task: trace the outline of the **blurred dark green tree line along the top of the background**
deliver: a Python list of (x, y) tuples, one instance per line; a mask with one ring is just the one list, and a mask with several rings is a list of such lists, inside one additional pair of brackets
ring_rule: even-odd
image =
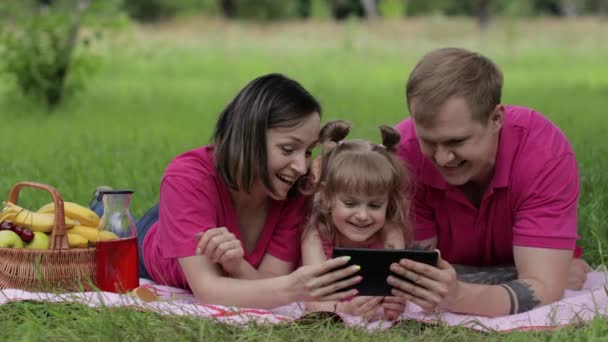
[[(487, 4), (488, 14), (511, 17), (562, 16), (569, 10), (594, 14), (608, 7), (608, 0), (376, 0), (379, 15), (392, 18), (438, 14), (475, 16), (483, 3)], [(329, 17), (328, 13), (335, 19), (364, 17), (361, 0), (124, 0), (124, 8), (132, 18), (144, 22), (182, 13), (258, 21), (324, 19)]]

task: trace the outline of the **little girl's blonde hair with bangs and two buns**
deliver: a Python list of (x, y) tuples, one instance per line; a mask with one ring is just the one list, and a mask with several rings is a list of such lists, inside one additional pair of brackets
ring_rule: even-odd
[[(338, 193), (367, 196), (388, 194), (385, 227), (403, 229), (405, 241), (411, 241), (409, 220), (410, 179), (403, 161), (396, 155), (401, 136), (389, 126), (380, 126), (382, 144), (365, 140), (343, 141), (351, 124), (337, 120), (321, 128), (322, 146), (317, 194), (304, 235), (316, 228), (324, 240), (335, 241), (336, 228), (331, 220), (331, 205)], [(383, 227), (384, 229), (384, 227)]]

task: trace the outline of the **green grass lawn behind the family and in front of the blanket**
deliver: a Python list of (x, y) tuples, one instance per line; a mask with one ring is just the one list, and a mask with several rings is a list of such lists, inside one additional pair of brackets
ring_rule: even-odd
[[(353, 122), (352, 137), (379, 140), (376, 127), (407, 116), (404, 83), (434, 47), (462, 46), (493, 58), (505, 73), (504, 102), (543, 112), (572, 142), (579, 162), (579, 234), (584, 258), (606, 264), (608, 246), (608, 26), (578, 21), (499, 21), (483, 35), (472, 21), (441, 18), (372, 26), (313, 22), (225, 24), (192, 18), (133, 27), (98, 47), (103, 65), (85, 92), (48, 113), (0, 83), (0, 198), (21, 180), (48, 183), (86, 204), (95, 186), (135, 189), (136, 215), (154, 204), (167, 162), (206, 144), (217, 114), (252, 78), (282, 72), (324, 106), (323, 119)], [(49, 201), (24, 190), (20, 203)], [(604, 252), (605, 254), (605, 252)], [(78, 320), (76, 320), (78, 319)], [(0, 307), (2, 340), (587, 340), (608, 322), (553, 333), (481, 334), (406, 322), (368, 334), (341, 325), (256, 326), (167, 317), (127, 309), (11, 303)]]

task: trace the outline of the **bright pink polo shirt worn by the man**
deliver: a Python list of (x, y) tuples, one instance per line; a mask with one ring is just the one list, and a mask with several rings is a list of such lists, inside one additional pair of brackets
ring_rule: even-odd
[(479, 208), (422, 155), (410, 118), (396, 128), (398, 154), (414, 182), (416, 240), (436, 236), (445, 260), (499, 266), (513, 264), (514, 245), (575, 250), (576, 160), (564, 134), (540, 113), (505, 106), (494, 175)]

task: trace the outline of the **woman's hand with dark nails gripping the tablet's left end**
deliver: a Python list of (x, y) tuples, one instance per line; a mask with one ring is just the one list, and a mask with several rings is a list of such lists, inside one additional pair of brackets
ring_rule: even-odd
[(357, 295), (357, 290), (343, 291), (363, 278), (354, 276), (359, 266), (344, 267), (349, 257), (329, 259), (315, 265), (301, 266), (287, 276), (290, 302), (343, 300)]

